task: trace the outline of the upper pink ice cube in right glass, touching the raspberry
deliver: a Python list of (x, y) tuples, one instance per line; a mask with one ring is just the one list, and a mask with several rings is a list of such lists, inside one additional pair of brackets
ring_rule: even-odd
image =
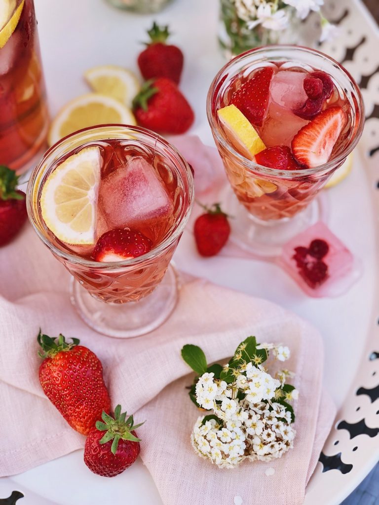
[(305, 72), (291, 70), (277, 72), (270, 83), (272, 101), (289, 111), (304, 105), (308, 98), (303, 87), (306, 76)]

